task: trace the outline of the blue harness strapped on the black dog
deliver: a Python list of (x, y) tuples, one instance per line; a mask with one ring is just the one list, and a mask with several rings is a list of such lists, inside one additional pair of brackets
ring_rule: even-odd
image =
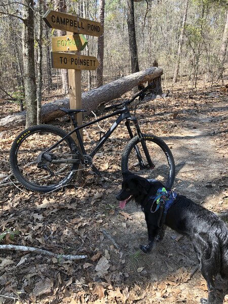
[[(173, 202), (175, 201), (176, 196), (177, 196), (176, 192), (173, 192), (172, 190), (167, 191), (166, 188), (163, 187), (158, 189), (155, 196), (150, 196), (148, 198), (148, 202), (153, 200), (153, 203), (150, 207), (151, 213), (155, 213), (160, 209), (160, 215), (158, 219), (158, 226), (160, 228), (165, 222), (167, 212), (171, 207), (171, 205), (173, 204)], [(154, 206), (155, 203), (157, 204), (156, 208)], [(153, 211), (153, 209), (155, 210)]]

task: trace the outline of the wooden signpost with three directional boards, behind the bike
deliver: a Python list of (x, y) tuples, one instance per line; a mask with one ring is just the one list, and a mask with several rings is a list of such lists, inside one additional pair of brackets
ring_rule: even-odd
[[(81, 109), (81, 70), (95, 70), (98, 67), (96, 57), (79, 54), (88, 43), (83, 34), (99, 37), (103, 34), (103, 27), (99, 22), (53, 10), (48, 10), (43, 19), (49, 27), (67, 31), (66, 36), (52, 37), (52, 67), (68, 69), (70, 108)], [(78, 52), (74, 54), (63, 53), (64, 51)], [(78, 113), (77, 121), (82, 125), (82, 113)], [(73, 130), (72, 125), (71, 129)], [(80, 134), (82, 136), (82, 130)], [(72, 137), (76, 141), (76, 137)]]

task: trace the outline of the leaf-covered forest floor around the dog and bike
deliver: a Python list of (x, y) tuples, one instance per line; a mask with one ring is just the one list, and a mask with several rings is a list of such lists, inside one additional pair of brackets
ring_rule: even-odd
[[(147, 97), (137, 110), (143, 131), (161, 136), (171, 148), (175, 191), (218, 213), (228, 211), (227, 101), (221, 87), (175, 90), (166, 98)], [(10, 106), (1, 109), (2, 116), (15, 110)], [(107, 129), (111, 122), (101, 126)], [(62, 122), (60, 127), (67, 129), (69, 124)], [(0, 173), (9, 174), (9, 150), (21, 130), (1, 134)], [(85, 142), (88, 134), (98, 139), (98, 131), (87, 128)], [(139, 244), (147, 242), (143, 213), (132, 202), (122, 211), (116, 200), (127, 141), (123, 124), (105, 145), (105, 154), (95, 160), (102, 178), (87, 174), (81, 184), (45, 195), (23, 187), (1, 188), (0, 229), (9, 233), (0, 244), (88, 258), (67, 261), (2, 251), (0, 303), (195, 304), (207, 297), (206, 282), (185, 237), (168, 230), (150, 254), (139, 250)]]

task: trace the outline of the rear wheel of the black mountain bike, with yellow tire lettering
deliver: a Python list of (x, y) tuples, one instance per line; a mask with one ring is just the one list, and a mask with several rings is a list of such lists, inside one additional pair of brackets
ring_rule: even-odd
[(44, 154), (66, 135), (59, 128), (40, 125), (28, 128), (17, 136), (10, 151), (10, 165), (22, 185), (32, 191), (50, 192), (73, 178), (79, 164), (67, 163), (77, 159), (76, 146), (70, 136)]

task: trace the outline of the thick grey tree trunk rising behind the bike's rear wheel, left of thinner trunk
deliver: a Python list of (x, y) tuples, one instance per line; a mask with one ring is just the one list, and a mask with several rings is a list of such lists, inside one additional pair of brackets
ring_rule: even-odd
[(23, 6), (23, 63), (24, 88), (26, 101), (26, 127), (36, 125), (36, 88), (35, 88), (35, 62), (34, 62), (34, 19), (33, 0), (24, 0)]

